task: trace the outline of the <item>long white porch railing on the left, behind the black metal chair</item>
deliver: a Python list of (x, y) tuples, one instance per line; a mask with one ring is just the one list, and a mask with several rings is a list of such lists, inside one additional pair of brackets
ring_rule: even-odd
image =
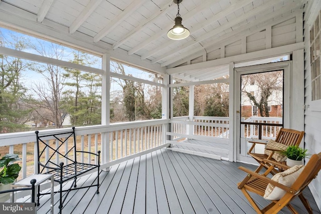
[[(107, 168), (166, 146), (165, 130), (168, 124), (169, 120), (159, 119), (76, 127), (77, 149), (89, 152), (100, 150), (101, 168)], [(40, 133), (51, 134), (66, 130), (70, 128), (42, 130)], [(68, 145), (60, 149), (60, 152), (64, 152), (64, 149), (68, 150)], [(22, 158), (22, 170), (18, 179), (37, 173), (37, 144), (34, 131), (0, 134), (0, 151), (2, 155), (18, 153)], [(90, 155), (77, 158), (86, 163), (98, 161)], [(59, 163), (59, 157), (56, 158), (56, 162)]]

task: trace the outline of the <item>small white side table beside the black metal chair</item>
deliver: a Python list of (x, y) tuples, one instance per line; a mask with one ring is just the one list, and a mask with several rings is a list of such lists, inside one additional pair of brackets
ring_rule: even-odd
[[(35, 183), (35, 202), (36, 204), (38, 203), (37, 201), (37, 194), (38, 194), (38, 188), (39, 185), (43, 182), (45, 182), (46, 180), (50, 179), (51, 180), (51, 195), (50, 195), (50, 213), (53, 214), (54, 213), (54, 175), (52, 174), (32, 174), (22, 180), (19, 180), (18, 182), (14, 183), (11, 185), (12, 188), (17, 188), (17, 187), (30, 187), (30, 181), (32, 179), (36, 179), (36, 183)], [(15, 201), (15, 194), (12, 194), (11, 197), (12, 201)], [(35, 207), (35, 213), (37, 213), (37, 207)]]

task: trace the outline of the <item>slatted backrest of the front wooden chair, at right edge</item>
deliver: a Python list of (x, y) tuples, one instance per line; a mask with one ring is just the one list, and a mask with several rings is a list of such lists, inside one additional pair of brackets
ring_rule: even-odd
[(307, 186), (321, 169), (321, 152), (313, 154), (291, 188), (301, 190)]

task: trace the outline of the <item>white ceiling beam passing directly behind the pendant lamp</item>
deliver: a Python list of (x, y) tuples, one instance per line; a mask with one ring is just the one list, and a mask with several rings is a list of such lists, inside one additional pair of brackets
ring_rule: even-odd
[[(184, 16), (182, 16), (184, 22), (186, 22), (186, 20), (193, 18), (193, 16), (195, 14), (200, 13), (201, 11), (210, 8), (212, 5), (219, 3), (219, 0), (206, 0), (205, 3), (202, 3), (201, 5), (199, 5), (198, 7), (194, 8), (192, 11), (188, 12), (187, 14), (185, 14)], [(184, 2), (182, 3), (184, 4)], [(174, 7), (176, 7), (176, 4), (173, 4)], [(157, 32), (156, 34), (154, 34), (153, 36), (149, 37), (147, 40), (145, 40), (144, 42), (140, 43), (139, 45), (137, 45), (136, 47), (132, 48), (131, 50), (128, 51), (128, 54), (134, 54), (137, 51), (139, 51), (140, 49), (144, 48), (145, 46), (147, 46), (149, 43), (157, 40), (160, 37), (163, 37), (164, 35), (167, 34), (167, 32), (173, 28), (174, 26), (174, 20), (173, 23), (171, 25), (168, 25), (165, 29), (163, 29), (160, 32)]]

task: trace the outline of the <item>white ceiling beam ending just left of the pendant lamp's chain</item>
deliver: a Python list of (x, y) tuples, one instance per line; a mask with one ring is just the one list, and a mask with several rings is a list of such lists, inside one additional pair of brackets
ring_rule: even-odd
[[(118, 40), (117, 42), (115, 42), (112, 46), (112, 49), (115, 50), (116, 48), (118, 48), (119, 46), (121, 46), (122, 44), (124, 44), (125, 42), (127, 42), (131, 37), (133, 37), (137, 32), (140, 32), (141, 29), (143, 29), (148, 23), (150, 23), (151, 21), (153, 21), (155, 18), (157, 18), (158, 16), (163, 15), (167, 9), (169, 9), (170, 5), (173, 3), (173, 0), (171, 0), (170, 2), (166, 3), (164, 6), (161, 7), (161, 9), (155, 13), (152, 17), (148, 18), (147, 20), (145, 20), (143, 23), (139, 24), (137, 27), (135, 27), (132, 31), (130, 31), (127, 35), (125, 35), (124, 37), (122, 37), (120, 40)], [(173, 7), (171, 9), (174, 9)]]

